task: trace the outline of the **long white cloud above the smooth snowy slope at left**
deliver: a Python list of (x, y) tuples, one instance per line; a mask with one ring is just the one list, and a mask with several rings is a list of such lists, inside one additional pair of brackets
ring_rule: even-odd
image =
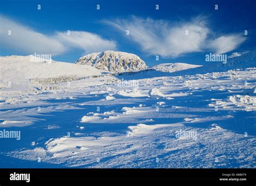
[[(45, 35), (1, 15), (0, 23), (0, 47), (14, 49), (24, 54), (36, 52), (60, 55), (72, 48), (83, 49), (85, 53), (116, 49), (116, 42), (103, 39), (94, 33), (70, 31), (70, 35), (67, 32)], [(9, 30), (11, 35), (8, 35)]]

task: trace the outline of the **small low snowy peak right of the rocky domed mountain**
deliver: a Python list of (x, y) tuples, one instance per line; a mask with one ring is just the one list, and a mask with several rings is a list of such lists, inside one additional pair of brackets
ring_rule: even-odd
[(200, 67), (200, 66), (190, 65), (187, 63), (162, 63), (162, 64), (151, 67), (151, 69), (172, 73), (174, 71), (180, 71), (180, 70), (197, 68), (197, 67)]

